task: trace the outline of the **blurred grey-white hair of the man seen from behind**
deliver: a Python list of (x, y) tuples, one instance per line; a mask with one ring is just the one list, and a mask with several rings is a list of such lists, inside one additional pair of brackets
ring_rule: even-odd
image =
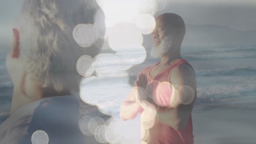
[[(26, 70), (44, 88), (78, 91), (76, 64), (82, 55), (94, 57), (95, 45), (80, 47), (72, 37), (79, 23), (94, 24), (96, 0), (25, 0), (16, 24)], [(104, 24), (103, 24), (104, 25)]]

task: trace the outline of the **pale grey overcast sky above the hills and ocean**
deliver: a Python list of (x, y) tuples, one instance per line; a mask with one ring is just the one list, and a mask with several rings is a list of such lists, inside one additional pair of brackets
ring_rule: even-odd
[[(106, 0), (107, 1), (107, 0)], [(129, 1), (129, 0), (127, 0)], [(163, 1), (163, 0), (161, 0)], [(255, 0), (167, 0), (164, 11), (181, 15), (185, 23), (193, 25), (226, 25), (231, 28), (256, 29)], [(9, 37), (13, 21), (19, 14), (22, 0), (1, 0), (0, 39)]]

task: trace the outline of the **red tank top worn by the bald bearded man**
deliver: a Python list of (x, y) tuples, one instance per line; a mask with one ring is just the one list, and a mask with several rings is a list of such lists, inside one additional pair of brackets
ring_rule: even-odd
[[(191, 65), (185, 60), (181, 59), (178, 62), (170, 65), (163, 73), (152, 77), (149, 75), (150, 70), (159, 63), (152, 65), (142, 71), (147, 76), (148, 83), (152, 80), (156, 80), (159, 82), (170, 82), (170, 74), (174, 67), (181, 64), (188, 64), (190, 67)], [(192, 68), (192, 67), (191, 67)], [(146, 141), (148, 144), (190, 144), (194, 143), (194, 135), (193, 135), (193, 125), (192, 125), (192, 118), (191, 114), (189, 116), (189, 120), (185, 128), (181, 131), (176, 131), (172, 127), (167, 125), (156, 123), (153, 128), (149, 129), (149, 136), (147, 137)]]

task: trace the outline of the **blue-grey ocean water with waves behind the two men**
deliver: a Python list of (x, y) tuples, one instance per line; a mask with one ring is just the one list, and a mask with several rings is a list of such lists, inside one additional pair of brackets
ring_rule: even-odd
[[(0, 53), (0, 124), (9, 116), (13, 84), (5, 68), (5, 52)], [(193, 112), (206, 111), (201, 105), (242, 104), (256, 101), (256, 45), (183, 47), (182, 56), (193, 65), (197, 80), (197, 99)], [(148, 64), (157, 62), (147, 60)], [(141, 66), (143, 67), (143, 65)], [(133, 77), (133, 78), (132, 78)], [(130, 79), (134, 79), (133, 74)], [(91, 92), (103, 95), (90, 97), (103, 112), (118, 117), (124, 95), (131, 91), (127, 79), (109, 77), (94, 81)], [(100, 91), (98, 91), (100, 89)], [(94, 91), (95, 90), (95, 91)]]

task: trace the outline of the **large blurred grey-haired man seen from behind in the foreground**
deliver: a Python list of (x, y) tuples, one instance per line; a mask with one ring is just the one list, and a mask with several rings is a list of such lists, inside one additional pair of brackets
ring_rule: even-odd
[(100, 50), (81, 47), (72, 37), (78, 24), (94, 24), (97, 10), (94, 0), (24, 1), (7, 55), (14, 89), (0, 143), (100, 143), (93, 134), (83, 135), (86, 125), (80, 130), (79, 119), (109, 116), (75, 95), (82, 79), (76, 69), (79, 57), (95, 57)]

